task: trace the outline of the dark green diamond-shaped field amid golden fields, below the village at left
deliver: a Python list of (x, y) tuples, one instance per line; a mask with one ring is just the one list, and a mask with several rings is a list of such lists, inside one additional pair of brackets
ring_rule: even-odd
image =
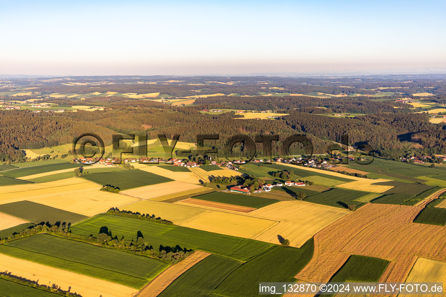
[(83, 175), (82, 177), (94, 183), (99, 183), (103, 186), (111, 185), (115, 188), (118, 187), (121, 191), (136, 187), (153, 185), (156, 183), (170, 182), (173, 180), (164, 176), (156, 175), (151, 172), (146, 172), (138, 169), (90, 173), (87, 175)]

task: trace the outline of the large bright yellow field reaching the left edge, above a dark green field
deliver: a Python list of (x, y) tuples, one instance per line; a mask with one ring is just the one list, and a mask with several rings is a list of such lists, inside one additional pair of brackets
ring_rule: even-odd
[(4, 186), (0, 204), (28, 200), (84, 216), (94, 216), (106, 212), (110, 207), (120, 207), (138, 200), (99, 191), (100, 188), (95, 183), (74, 177), (48, 183)]

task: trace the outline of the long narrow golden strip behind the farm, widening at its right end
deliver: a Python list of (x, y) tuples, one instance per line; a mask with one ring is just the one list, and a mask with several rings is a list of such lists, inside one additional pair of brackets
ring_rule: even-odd
[(316, 169), (316, 168), (297, 166), (297, 165), (287, 164), (287, 163), (278, 163), (278, 162), (275, 162), (275, 163), (289, 166), (289, 167), (294, 167), (297, 169), (302, 169), (302, 170), (307, 170), (307, 171), (318, 172), (321, 174), (342, 177), (344, 179), (355, 180), (354, 182), (342, 183), (342, 184), (336, 185), (336, 187), (343, 187), (346, 189), (359, 190), (359, 191), (371, 191), (371, 192), (376, 192), (376, 193), (383, 193), (383, 192), (392, 188), (392, 186), (380, 186), (380, 185), (372, 184), (372, 183), (388, 182), (388, 181), (390, 181), (390, 179), (364, 179), (362, 177), (344, 175), (342, 173), (338, 173), (338, 172), (334, 172), (334, 171), (320, 170), (320, 169)]

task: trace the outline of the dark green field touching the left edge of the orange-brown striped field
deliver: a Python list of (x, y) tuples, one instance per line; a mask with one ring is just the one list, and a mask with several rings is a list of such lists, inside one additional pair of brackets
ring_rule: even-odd
[[(313, 239), (301, 248), (276, 246), (268, 252), (235, 269), (212, 291), (218, 296), (259, 296), (259, 281), (295, 282), (294, 276), (311, 260), (314, 251)], [(252, 288), (252, 289), (248, 289)]]

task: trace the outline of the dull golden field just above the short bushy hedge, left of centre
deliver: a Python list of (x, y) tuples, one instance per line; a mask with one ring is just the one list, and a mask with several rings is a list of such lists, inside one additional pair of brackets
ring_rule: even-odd
[(128, 204), (121, 210), (129, 210), (131, 212), (140, 212), (141, 214), (154, 214), (161, 219), (169, 220), (173, 224), (179, 225), (186, 220), (193, 218), (201, 213), (207, 212), (197, 207), (188, 207), (183, 205), (157, 202), (151, 200), (143, 200)]

